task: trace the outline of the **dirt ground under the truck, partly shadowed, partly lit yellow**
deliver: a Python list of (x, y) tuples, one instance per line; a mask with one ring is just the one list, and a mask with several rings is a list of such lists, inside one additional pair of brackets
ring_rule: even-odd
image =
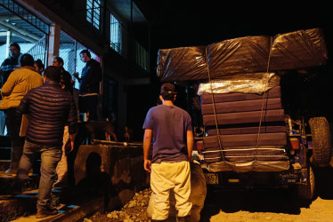
[(316, 194), (300, 202), (288, 189), (220, 190), (207, 196), (201, 221), (333, 221), (333, 169), (316, 169)]

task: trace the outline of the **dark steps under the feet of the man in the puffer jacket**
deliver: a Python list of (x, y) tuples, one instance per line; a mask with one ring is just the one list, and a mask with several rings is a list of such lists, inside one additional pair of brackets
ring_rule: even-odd
[[(24, 192), (15, 196), (0, 195), (0, 215), (2, 221), (82, 221), (94, 212), (103, 212), (104, 197), (84, 194), (72, 188), (68, 190), (53, 190), (53, 207), (58, 214), (48, 218), (36, 218), (38, 190)], [(0, 217), (1, 218), (1, 217)]]

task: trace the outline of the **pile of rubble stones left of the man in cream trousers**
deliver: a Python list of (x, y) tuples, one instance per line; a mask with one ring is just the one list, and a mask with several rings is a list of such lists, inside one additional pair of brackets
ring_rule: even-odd
[(84, 222), (94, 221), (149, 221), (146, 215), (148, 203), (150, 202), (150, 188), (135, 193), (131, 201), (127, 202), (121, 210), (113, 210), (105, 214), (95, 213), (90, 218), (85, 218)]

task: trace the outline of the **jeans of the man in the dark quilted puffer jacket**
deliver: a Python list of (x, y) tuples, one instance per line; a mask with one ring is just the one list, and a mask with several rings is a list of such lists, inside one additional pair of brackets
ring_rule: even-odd
[(24, 143), (23, 155), (20, 158), (20, 166), (17, 173), (19, 180), (28, 178), (28, 171), (41, 154), (40, 180), (38, 187), (37, 208), (43, 208), (50, 204), (51, 190), (55, 178), (55, 169), (61, 160), (61, 146), (46, 146), (28, 142)]

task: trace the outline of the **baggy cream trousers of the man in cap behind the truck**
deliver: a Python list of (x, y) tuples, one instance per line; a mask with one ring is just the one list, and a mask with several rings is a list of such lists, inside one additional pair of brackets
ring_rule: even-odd
[(191, 214), (192, 204), (189, 202), (191, 170), (189, 162), (152, 163), (150, 187), (155, 199), (152, 219), (163, 220), (168, 218), (170, 190), (174, 190), (175, 193), (175, 209), (178, 211), (178, 217)]

